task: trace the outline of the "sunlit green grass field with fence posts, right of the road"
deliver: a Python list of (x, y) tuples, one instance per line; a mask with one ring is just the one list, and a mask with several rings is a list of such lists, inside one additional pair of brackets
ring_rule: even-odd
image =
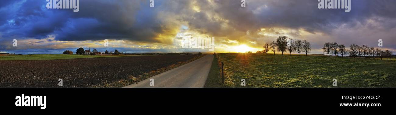
[[(224, 61), (225, 84), (217, 60), (205, 87), (396, 87), (396, 61), (325, 56), (218, 54)], [(228, 76), (230, 78), (228, 78)], [(333, 78), (337, 86), (333, 86)]]

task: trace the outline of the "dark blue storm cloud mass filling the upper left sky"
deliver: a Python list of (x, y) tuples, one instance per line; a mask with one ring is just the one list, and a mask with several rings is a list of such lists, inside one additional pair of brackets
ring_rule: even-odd
[[(157, 19), (155, 7), (148, 7), (147, 0), (80, 0), (79, 12), (46, 9), (46, 3), (45, 0), (27, 0), (19, 7), (12, 7), (11, 3), (2, 5), (16, 10), (1, 11), (8, 13), (0, 27), (3, 37), (42, 39), (56, 35), (61, 41), (126, 39), (169, 43), (158, 37), (166, 37), (169, 34), (166, 32), (174, 29)], [(160, 1), (157, 4), (161, 4)], [(8, 20), (15, 22), (8, 24)]]

